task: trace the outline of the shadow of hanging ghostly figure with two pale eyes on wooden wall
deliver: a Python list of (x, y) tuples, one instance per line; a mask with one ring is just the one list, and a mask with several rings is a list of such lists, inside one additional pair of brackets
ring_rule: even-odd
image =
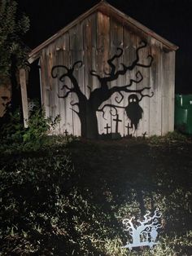
[(125, 108), (126, 114), (131, 121), (131, 127), (137, 130), (139, 120), (142, 119), (142, 107), (139, 105), (139, 99), (137, 95), (129, 95), (128, 106)]

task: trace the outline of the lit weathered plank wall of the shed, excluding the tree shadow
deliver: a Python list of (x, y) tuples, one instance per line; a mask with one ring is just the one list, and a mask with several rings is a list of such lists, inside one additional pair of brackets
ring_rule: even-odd
[[(63, 77), (62, 82), (59, 81), (59, 77), (66, 73), (67, 69), (56, 68), (53, 78), (51, 68), (55, 65), (72, 68), (76, 61), (81, 60), (83, 65), (76, 64), (73, 74), (82, 94), (89, 99), (91, 93), (100, 87), (98, 78), (90, 75), (90, 70), (94, 70), (100, 77), (107, 76), (105, 73), (111, 70), (107, 60), (117, 54), (117, 47), (122, 48), (124, 53), (113, 61), (116, 70), (122, 68), (121, 63), (131, 65), (136, 58), (136, 49), (141, 46), (140, 42), (143, 39), (147, 42), (147, 46), (139, 51), (139, 63), (149, 64), (150, 58), (147, 59), (147, 56), (152, 55), (154, 60), (151, 67), (137, 66), (108, 83), (110, 89), (113, 86), (129, 85), (132, 79), (137, 80), (138, 72), (142, 73), (143, 77), (141, 82), (133, 83), (129, 87), (132, 90), (129, 93), (122, 92), (120, 95), (116, 92), (103, 101), (99, 109), (108, 107), (103, 108), (104, 113), (97, 112), (98, 133), (142, 136), (164, 135), (169, 130), (173, 130), (175, 52), (165, 51), (162, 43), (154, 38), (146, 37), (141, 31), (133, 30), (114, 18), (98, 12), (76, 24), (41, 52), (42, 104), (48, 117), (54, 118), (60, 115), (61, 121), (56, 130), (58, 134), (63, 134), (67, 130), (68, 134), (80, 136), (82, 121), (77, 114), (78, 96), (76, 93), (68, 93), (72, 88), (72, 82), (68, 77)], [(138, 90), (144, 87), (146, 90), (143, 90), (142, 94), (139, 93)], [(66, 97), (63, 98), (64, 95)], [(141, 99), (136, 106), (130, 104), (129, 95)], [(116, 110), (112, 106), (118, 106), (116, 108), (120, 120), (118, 123), (115, 121)], [(132, 121), (127, 115), (129, 107), (140, 114), (142, 111), (142, 118), (138, 118), (137, 121), (137, 129), (130, 127)], [(86, 111), (88, 110), (85, 110), (85, 113)], [(89, 129), (88, 122), (87, 130)]]

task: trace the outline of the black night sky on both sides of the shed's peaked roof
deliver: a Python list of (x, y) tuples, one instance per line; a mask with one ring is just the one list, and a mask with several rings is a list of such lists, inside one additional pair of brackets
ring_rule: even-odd
[[(32, 49), (89, 10), (96, 0), (17, 0), (31, 20), (24, 38)], [(176, 93), (192, 94), (192, 0), (108, 0), (112, 6), (179, 46)]]

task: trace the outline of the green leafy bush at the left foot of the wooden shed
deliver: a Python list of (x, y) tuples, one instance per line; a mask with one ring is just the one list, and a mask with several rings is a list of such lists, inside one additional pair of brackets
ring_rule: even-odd
[(24, 128), (23, 118), (20, 110), (14, 113), (7, 111), (2, 117), (0, 139), (2, 149), (20, 148), (22, 150), (37, 150), (49, 142), (48, 134), (54, 130), (59, 123), (59, 117), (53, 121), (45, 117), (45, 112), (37, 106), (30, 113), (28, 128)]

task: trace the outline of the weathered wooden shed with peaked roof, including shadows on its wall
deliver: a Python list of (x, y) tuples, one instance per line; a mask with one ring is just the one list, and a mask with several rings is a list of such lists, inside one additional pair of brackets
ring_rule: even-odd
[[(55, 130), (85, 138), (165, 135), (174, 126), (175, 53), (107, 2), (85, 12), (29, 55), (39, 60), (41, 104)], [(24, 118), (27, 74), (20, 70)]]

